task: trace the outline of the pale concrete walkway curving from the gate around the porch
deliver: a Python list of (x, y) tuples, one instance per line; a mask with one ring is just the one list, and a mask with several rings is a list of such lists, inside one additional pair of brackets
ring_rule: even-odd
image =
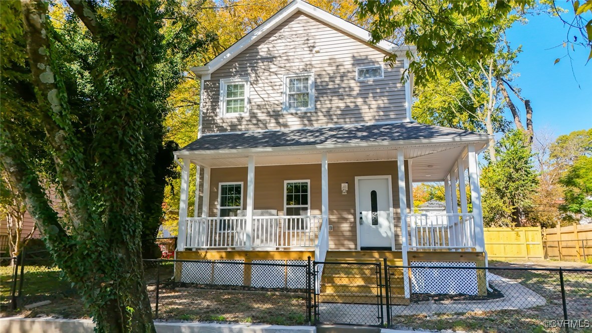
[[(433, 313), (465, 313), (469, 311), (487, 310), (519, 310), (546, 304), (544, 297), (533, 292), (516, 281), (488, 274), (491, 286), (500, 290), (504, 295), (492, 300), (446, 300), (441, 302), (419, 302), (410, 305), (394, 305), (391, 307), (392, 316), (400, 315), (432, 315)], [(378, 323), (377, 305), (321, 303), (319, 305), (321, 321), (347, 322), (361, 325), (376, 325)], [(386, 306), (383, 307), (386, 321)]]

